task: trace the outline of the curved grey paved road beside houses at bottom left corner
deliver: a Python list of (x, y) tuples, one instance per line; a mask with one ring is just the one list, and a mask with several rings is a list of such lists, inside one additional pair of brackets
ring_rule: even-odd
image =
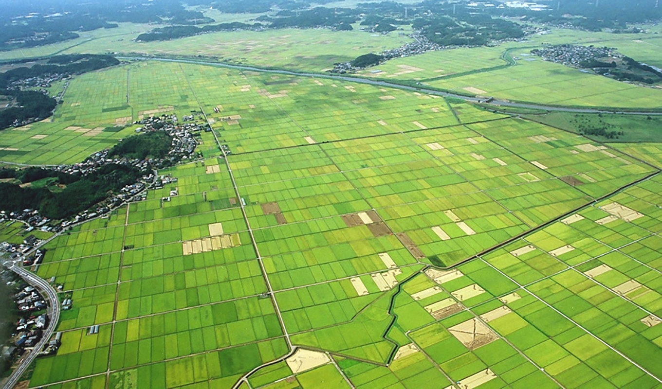
[[(21, 257), (18, 263), (20, 263), (20, 261), (23, 261), (23, 257)], [(23, 358), (19, 367), (17, 367), (16, 370), (12, 372), (11, 376), (9, 376), (9, 380), (5, 382), (5, 389), (11, 389), (19, 382), (19, 379), (21, 379), (25, 370), (30, 367), (32, 361), (34, 361), (40, 351), (44, 348), (44, 345), (50, 340), (50, 337), (53, 335), (53, 332), (58, 325), (58, 321), (60, 320), (60, 299), (58, 299), (58, 292), (56, 292), (48, 282), (37, 277), (33, 273), (26, 271), (23, 267), (19, 267), (18, 263), (8, 263), (8, 268), (21, 276), (21, 278), (28, 282), (28, 284), (34, 286), (34, 288), (39, 290), (42, 296), (48, 300), (48, 310), (46, 311), (48, 312), (48, 327), (44, 330), (44, 335), (36, 346), (34, 346), (34, 349), (30, 351), (27, 357)]]

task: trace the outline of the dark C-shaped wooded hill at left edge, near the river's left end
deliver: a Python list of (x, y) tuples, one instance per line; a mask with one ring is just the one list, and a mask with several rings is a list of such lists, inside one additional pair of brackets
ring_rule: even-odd
[(119, 63), (117, 58), (111, 56), (71, 54), (50, 58), (46, 65), (36, 64), (32, 67), (17, 67), (5, 71), (5, 73), (0, 73), (0, 95), (15, 100), (12, 107), (0, 110), (0, 130), (33, 118), (48, 118), (58, 105), (55, 99), (40, 92), (8, 89), (11, 87), (11, 83), (52, 73), (81, 74), (118, 65)]

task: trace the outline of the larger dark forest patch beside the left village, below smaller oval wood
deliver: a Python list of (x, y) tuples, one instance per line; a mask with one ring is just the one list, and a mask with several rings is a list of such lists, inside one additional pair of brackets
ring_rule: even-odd
[(58, 173), (40, 173), (46, 177), (56, 176), (56, 184), (66, 185), (57, 193), (46, 187), (21, 188), (13, 183), (0, 183), (0, 210), (16, 212), (29, 208), (47, 218), (64, 219), (105, 200), (109, 193), (117, 193), (126, 185), (136, 183), (142, 175), (134, 167), (115, 164), (104, 165), (84, 177)]

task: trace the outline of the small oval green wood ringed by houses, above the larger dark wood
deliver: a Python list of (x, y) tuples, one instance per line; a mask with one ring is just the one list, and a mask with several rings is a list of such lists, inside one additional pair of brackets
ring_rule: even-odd
[(165, 131), (151, 131), (122, 139), (113, 146), (108, 156), (130, 159), (163, 158), (171, 146), (172, 137)]

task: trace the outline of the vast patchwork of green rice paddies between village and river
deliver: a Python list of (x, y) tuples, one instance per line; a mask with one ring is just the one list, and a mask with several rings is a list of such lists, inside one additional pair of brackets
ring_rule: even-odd
[(0, 134), (30, 150), (3, 159), (81, 159), (134, 127), (76, 130), (160, 112), (201, 109), (213, 133), (203, 159), (159, 172), (176, 181), (45, 246), (38, 275), (73, 308), (30, 388), (662, 382), (656, 144), (175, 62), (77, 77), (64, 101)]

